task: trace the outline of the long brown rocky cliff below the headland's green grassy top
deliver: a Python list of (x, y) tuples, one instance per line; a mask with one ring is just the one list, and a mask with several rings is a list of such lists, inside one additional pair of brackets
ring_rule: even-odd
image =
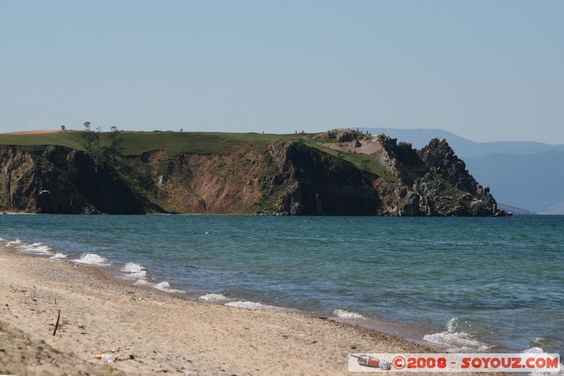
[[(319, 139), (318, 139), (319, 138)], [(448, 143), (422, 150), (333, 130), (264, 147), (111, 162), (61, 146), (0, 146), (0, 209), (276, 215), (505, 215)], [(364, 154), (364, 155), (363, 155)], [(363, 155), (362, 163), (353, 163)], [(347, 157), (353, 158), (350, 162)], [(377, 173), (370, 166), (379, 166)]]

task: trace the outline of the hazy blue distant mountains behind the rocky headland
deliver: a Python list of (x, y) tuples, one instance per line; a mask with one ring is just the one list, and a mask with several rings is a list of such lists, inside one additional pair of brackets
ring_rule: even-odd
[[(360, 128), (384, 133), (420, 149), (447, 140), (470, 174), (491, 188), (501, 207), (519, 213), (564, 214), (564, 145), (542, 142), (474, 142), (441, 129)], [(522, 209), (520, 209), (522, 208)]]

